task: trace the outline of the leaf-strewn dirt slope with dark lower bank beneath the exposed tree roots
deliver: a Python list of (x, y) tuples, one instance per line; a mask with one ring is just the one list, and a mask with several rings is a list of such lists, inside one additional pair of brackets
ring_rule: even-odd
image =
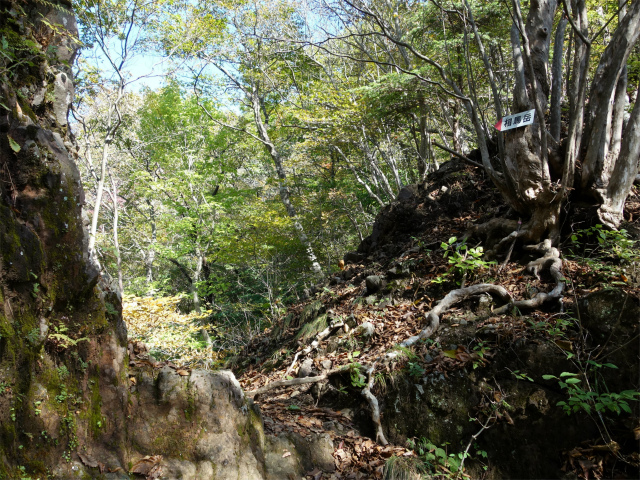
[[(628, 203), (632, 232), (637, 200), (634, 194)], [(585, 382), (597, 377), (598, 393), (602, 385), (637, 390), (638, 279), (622, 273), (619, 259), (603, 260), (611, 267), (603, 275), (569, 257), (568, 240), (560, 246), (567, 278), (562, 302), (497, 315), (504, 304), (499, 298), (469, 296), (443, 312), (431, 338), (398, 346), (418, 334), (427, 314), (463, 281), (501, 285), (514, 299), (554, 288), (548, 272), (536, 278), (524, 269), (533, 257), (520, 245), (502, 268), (478, 262), (465, 278), (449, 270), (451, 255), (444, 258), (441, 243), (457, 237), (452, 254), (470, 226), (498, 213), (508, 214), (481, 171), (458, 161), (445, 164), (424, 185), (403, 189), (357, 252), (345, 255), (344, 270), (232, 360), (243, 388), (255, 394), (266, 431), (331, 436), (337, 471), (316, 469), (309, 478), (404, 478), (394, 477), (390, 465), (407, 464), (413, 465), (405, 468), (409, 472), (451, 475), (447, 471), (460, 457), (437, 455), (447, 444), (447, 455), (468, 451), (465, 472), (472, 478), (560, 478), (573, 470), (584, 478), (635, 478), (637, 402), (628, 402), (632, 414), (566, 415), (555, 405), (567, 400), (566, 389), (543, 378), (569, 372)], [(576, 208), (565, 230), (590, 227), (588, 218)], [(479, 244), (467, 240), (469, 249)], [(633, 273), (638, 265), (627, 267)], [(616, 290), (605, 289), (613, 284)], [(615, 346), (610, 341), (603, 347), (598, 330), (608, 331)], [(614, 357), (615, 371), (585, 363)], [(285, 385), (271, 389), (273, 382)], [(286, 385), (296, 382), (309, 383)], [(381, 413), (378, 423), (368, 386)], [(422, 449), (406, 448), (407, 440), (414, 446), (422, 440)], [(389, 462), (391, 457), (401, 460)]]

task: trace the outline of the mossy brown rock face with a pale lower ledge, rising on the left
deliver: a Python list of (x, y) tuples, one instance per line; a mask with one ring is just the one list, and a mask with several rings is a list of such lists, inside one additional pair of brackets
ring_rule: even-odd
[(330, 462), (320, 437), (266, 438), (231, 372), (130, 369), (120, 299), (87, 258), (71, 3), (2, 0), (0, 36), (0, 478), (258, 480)]

